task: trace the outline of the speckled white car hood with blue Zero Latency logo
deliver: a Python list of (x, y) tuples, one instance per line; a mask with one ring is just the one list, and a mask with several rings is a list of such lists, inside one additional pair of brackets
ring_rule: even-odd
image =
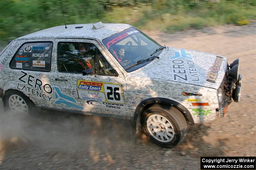
[(218, 89), (227, 67), (223, 56), (188, 49), (167, 47), (159, 57), (130, 74)]

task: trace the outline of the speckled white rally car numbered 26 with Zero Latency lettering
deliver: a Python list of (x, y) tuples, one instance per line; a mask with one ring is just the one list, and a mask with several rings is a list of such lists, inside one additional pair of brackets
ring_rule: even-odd
[(130, 119), (158, 145), (179, 144), (187, 122), (223, 117), (239, 102), (239, 60), (161, 46), (128, 24), (48, 28), (0, 53), (0, 97), (20, 114), (33, 106)]

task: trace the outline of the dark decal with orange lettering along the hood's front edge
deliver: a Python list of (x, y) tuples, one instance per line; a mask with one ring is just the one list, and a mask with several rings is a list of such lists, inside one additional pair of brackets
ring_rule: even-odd
[(211, 71), (208, 72), (206, 81), (208, 81), (210, 83), (215, 83), (222, 61), (223, 61), (223, 57), (216, 56), (214, 64), (210, 68)]

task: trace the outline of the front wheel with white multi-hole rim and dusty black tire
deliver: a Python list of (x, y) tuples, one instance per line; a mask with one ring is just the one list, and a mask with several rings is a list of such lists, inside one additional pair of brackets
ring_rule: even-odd
[(186, 136), (186, 119), (171, 106), (154, 104), (143, 113), (141, 124), (146, 136), (163, 147), (178, 145)]

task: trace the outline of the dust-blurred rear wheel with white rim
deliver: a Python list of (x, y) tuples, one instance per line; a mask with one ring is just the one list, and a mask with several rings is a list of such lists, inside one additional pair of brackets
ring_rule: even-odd
[(32, 113), (33, 103), (27, 96), (18, 91), (8, 91), (5, 98), (6, 109), (22, 117)]

